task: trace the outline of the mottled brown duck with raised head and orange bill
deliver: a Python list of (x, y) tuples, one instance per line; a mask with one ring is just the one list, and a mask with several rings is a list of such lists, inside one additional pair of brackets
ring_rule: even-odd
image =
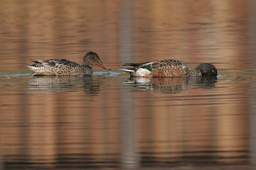
[(84, 55), (82, 64), (66, 59), (31, 60), (32, 65), (27, 65), (34, 75), (92, 75), (92, 66), (102, 67), (111, 70), (95, 52), (88, 52)]

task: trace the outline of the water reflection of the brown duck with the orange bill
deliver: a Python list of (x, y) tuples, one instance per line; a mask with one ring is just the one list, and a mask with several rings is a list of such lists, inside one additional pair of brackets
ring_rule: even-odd
[(33, 76), (30, 89), (50, 91), (79, 91), (99, 93), (101, 76)]

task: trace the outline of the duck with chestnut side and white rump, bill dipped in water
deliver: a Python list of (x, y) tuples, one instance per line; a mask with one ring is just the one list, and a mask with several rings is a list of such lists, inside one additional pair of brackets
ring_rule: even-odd
[(124, 66), (132, 66), (128, 69), (122, 69), (127, 71), (131, 77), (217, 76), (217, 69), (211, 63), (201, 63), (196, 67), (191, 67), (175, 59), (125, 63)]

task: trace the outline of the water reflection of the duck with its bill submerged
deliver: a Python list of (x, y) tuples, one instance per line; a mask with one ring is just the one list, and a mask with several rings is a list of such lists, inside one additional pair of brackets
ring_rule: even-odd
[(212, 88), (217, 82), (216, 76), (190, 76), (190, 77), (130, 77), (127, 83), (142, 90), (163, 93), (179, 93), (189, 86)]

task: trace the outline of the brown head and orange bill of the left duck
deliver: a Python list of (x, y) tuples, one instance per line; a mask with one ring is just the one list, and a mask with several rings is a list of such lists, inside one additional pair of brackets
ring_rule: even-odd
[(92, 67), (93, 65), (96, 65), (99, 67), (102, 67), (104, 69), (111, 70), (104, 62), (100, 60), (99, 55), (95, 52), (88, 52), (86, 55), (84, 55), (82, 66), (89, 66)]

